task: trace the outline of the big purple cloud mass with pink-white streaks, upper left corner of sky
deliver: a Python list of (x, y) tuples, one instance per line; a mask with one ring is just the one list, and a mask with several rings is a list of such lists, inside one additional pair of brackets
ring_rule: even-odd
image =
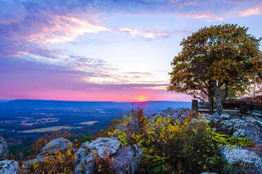
[(110, 31), (97, 23), (99, 13), (92, 12), (88, 3), (63, 2), (0, 1), (0, 55), (39, 52), (53, 56), (50, 45)]

